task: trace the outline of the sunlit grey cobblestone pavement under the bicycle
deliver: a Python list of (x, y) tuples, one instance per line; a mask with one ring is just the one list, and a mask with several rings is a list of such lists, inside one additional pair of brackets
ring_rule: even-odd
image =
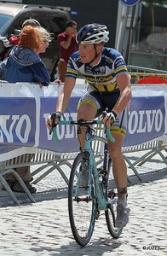
[[(164, 163), (155, 159), (142, 169), (146, 172), (147, 169), (152, 171), (164, 167)], [(86, 247), (79, 247), (72, 238), (66, 191), (55, 200), (43, 198), (19, 207), (0, 207), (0, 255), (167, 255), (167, 171), (149, 177), (147, 182), (135, 183), (128, 189), (130, 222), (121, 236), (112, 239), (102, 215), (96, 221), (94, 234)], [(52, 176), (48, 178), (50, 186)]]

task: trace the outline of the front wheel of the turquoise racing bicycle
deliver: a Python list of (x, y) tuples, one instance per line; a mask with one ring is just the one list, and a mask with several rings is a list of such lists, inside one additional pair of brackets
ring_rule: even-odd
[(97, 206), (93, 186), (91, 196), (88, 188), (79, 188), (82, 168), (85, 165), (89, 167), (89, 156), (82, 152), (73, 162), (68, 189), (68, 213), (72, 234), (82, 247), (89, 243), (93, 234)]

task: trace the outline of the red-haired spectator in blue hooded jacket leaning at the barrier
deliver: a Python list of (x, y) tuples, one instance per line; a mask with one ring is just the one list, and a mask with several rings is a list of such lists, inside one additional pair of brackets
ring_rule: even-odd
[(40, 34), (39, 30), (44, 28), (25, 26), (22, 29), (20, 43), (12, 49), (4, 69), (4, 79), (9, 83), (33, 82), (49, 85), (50, 76), (39, 53), (45, 52), (50, 38), (48, 32)]

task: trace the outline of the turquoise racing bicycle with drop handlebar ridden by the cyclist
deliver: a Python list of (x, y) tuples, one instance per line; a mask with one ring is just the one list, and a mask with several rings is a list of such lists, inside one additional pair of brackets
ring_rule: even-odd
[[(78, 153), (72, 164), (68, 188), (68, 214), (72, 234), (81, 247), (86, 246), (93, 235), (95, 220), (100, 217), (101, 210), (105, 211), (107, 228), (113, 238), (118, 238), (123, 228), (115, 227), (117, 193), (109, 189), (109, 175), (112, 160), (107, 153), (107, 139), (96, 136), (91, 125), (102, 125), (101, 120), (66, 121), (60, 120), (59, 125), (78, 125), (86, 127), (85, 148)], [(106, 129), (107, 138), (114, 142), (110, 128)], [(53, 128), (55, 142), (59, 143), (56, 129)], [(97, 168), (92, 146), (100, 142), (104, 145), (104, 159), (100, 168)], [(101, 162), (101, 161), (100, 161)], [(79, 183), (84, 169), (89, 170), (88, 186), (80, 188)]]

